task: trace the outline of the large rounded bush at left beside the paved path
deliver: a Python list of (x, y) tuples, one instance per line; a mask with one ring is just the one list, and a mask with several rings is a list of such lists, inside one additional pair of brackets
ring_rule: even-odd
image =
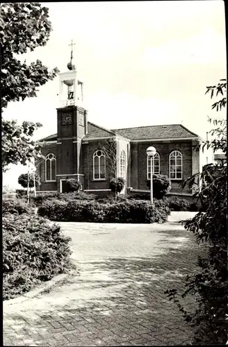
[(27, 214), (3, 216), (3, 300), (70, 269), (69, 237), (60, 226)]

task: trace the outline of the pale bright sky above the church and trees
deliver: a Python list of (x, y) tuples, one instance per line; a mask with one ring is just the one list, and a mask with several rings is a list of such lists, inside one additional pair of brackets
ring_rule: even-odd
[[(42, 3), (49, 42), (17, 57), (67, 71), (70, 42), (84, 83), (88, 120), (105, 128), (183, 124), (206, 138), (211, 110), (206, 86), (227, 76), (222, 0)], [(36, 98), (10, 103), (5, 119), (40, 121), (39, 139), (56, 133), (58, 77)], [(13, 166), (3, 184), (17, 186), (26, 168)]]

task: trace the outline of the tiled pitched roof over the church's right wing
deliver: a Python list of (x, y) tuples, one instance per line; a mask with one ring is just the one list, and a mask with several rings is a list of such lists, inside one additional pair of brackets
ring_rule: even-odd
[(140, 139), (174, 139), (181, 137), (198, 137), (197, 134), (182, 126), (168, 124), (163, 126), (138, 126), (136, 128), (115, 129), (115, 133), (131, 140)]

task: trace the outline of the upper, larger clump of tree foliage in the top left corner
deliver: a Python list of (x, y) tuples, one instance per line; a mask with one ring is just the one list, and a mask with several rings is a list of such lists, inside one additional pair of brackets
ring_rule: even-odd
[(49, 40), (48, 8), (40, 3), (2, 3), (0, 17), (1, 106), (36, 96), (38, 87), (52, 80), (58, 69), (49, 71), (40, 60), (27, 65), (15, 58)]

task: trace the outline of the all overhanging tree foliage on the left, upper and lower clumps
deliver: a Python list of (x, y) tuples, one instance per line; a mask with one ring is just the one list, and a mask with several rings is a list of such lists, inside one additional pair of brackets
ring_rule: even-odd
[[(58, 69), (51, 71), (40, 60), (20, 62), (17, 55), (44, 46), (49, 40), (51, 22), (48, 8), (40, 3), (2, 3), (0, 15), (1, 52), (1, 112), (10, 101), (22, 101), (37, 95), (38, 88), (53, 80)], [(41, 124), (2, 119), (3, 171), (8, 164), (26, 164), (26, 160), (40, 155), (40, 144), (32, 141), (34, 131)]]

